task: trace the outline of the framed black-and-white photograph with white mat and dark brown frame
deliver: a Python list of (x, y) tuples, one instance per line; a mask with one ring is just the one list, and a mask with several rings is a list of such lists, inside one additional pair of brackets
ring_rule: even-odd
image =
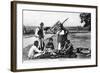
[(97, 66), (97, 6), (12, 2), (11, 69)]

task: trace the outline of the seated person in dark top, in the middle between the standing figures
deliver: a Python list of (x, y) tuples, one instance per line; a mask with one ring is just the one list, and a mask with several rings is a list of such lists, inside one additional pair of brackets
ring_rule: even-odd
[(50, 54), (55, 55), (53, 50), (54, 50), (53, 39), (49, 38), (49, 42), (46, 45), (45, 52), (49, 52)]

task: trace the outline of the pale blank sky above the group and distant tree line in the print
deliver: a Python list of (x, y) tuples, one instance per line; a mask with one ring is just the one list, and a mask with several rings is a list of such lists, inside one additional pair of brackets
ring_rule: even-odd
[(39, 26), (41, 22), (44, 26), (53, 26), (57, 21), (63, 22), (65, 27), (71, 26), (83, 26), (84, 23), (80, 23), (80, 13), (73, 12), (52, 12), (52, 11), (23, 11), (23, 25), (25, 26)]

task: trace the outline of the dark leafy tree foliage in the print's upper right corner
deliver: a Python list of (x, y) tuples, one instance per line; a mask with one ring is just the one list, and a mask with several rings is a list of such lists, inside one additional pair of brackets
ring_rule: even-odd
[(88, 30), (91, 30), (91, 13), (81, 13), (80, 14), (81, 23), (85, 22), (83, 27), (88, 28)]

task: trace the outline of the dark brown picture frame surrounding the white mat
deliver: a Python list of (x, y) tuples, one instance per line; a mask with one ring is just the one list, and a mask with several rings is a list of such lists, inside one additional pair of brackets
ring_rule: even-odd
[[(68, 7), (83, 7), (96, 9), (96, 64), (95, 65), (82, 65), (82, 66), (68, 66), (68, 67), (52, 67), (52, 68), (37, 68), (37, 69), (17, 69), (17, 4), (35, 4), (35, 5), (50, 5), (50, 6), (68, 6)], [(98, 7), (89, 5), (74, 5), (74, 4), (58, 4), (58, 3), (42, 3), (42, 2), (27, 2), (27, 1), (11, 1), (11, 71), (39, 71), (39, 70), (53, 70), (53, 69), (71, 69), (71, 68), (84, 68), (98, 66)]]

